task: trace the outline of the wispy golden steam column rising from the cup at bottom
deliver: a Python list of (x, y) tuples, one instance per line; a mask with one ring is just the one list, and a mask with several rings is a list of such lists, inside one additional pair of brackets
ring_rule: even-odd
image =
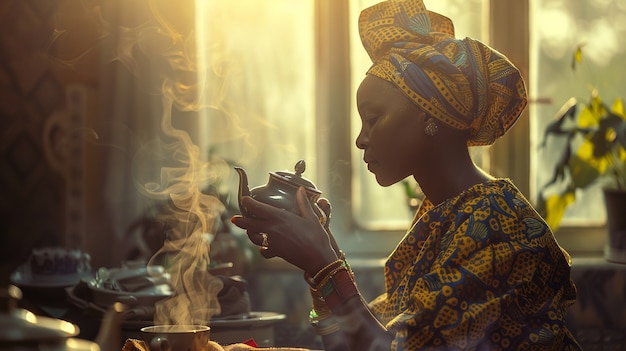
[[(174, 82), (175, 83), (175, 82)], [(171, 92), (171, 91), (170, 91)], [(171, 276), (175, 294), (157, 303), (156, 324), (204, 324), (220, 312), (217, 294), (221, 280), (211, 276), (209, 265), (209, 233), (224, 210), (218, 198), (203, 194), (201, 185), (215, 181), (212, 167), (201, 161), (199, 148), (189, 135), (171, 125), (174, 100), (163, 96), (162, 129), (174, 141), (167, 145), (177, 166), (163, 167), (161, 183), (147, 183), (149, 194), (167, 196), (171, 204), (171, 227), (164, 246), (149, 262), (168, 258), (166, 269)], [(160, 264), (160, 260), (156, 261)]]

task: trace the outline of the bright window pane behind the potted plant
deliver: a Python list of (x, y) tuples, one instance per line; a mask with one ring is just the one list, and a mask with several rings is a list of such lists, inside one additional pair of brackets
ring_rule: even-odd
[[(626, 97), (626, 2), (622, 0), (535, 0), (531, 3), (530, 104), (533, 189), (541, 189), (553, 175), (563, 140), (550, 138), (541, 148), (544, 130), (571, 97), (582, 103), (593, 89), (611, 104)], [(583, 60), (572, 68), (576, 47)], [(538, 193), (536, 194), (538, 197)], [(605, 221), (599, 187), (576, 194), (562, 224), (599, 224)]]

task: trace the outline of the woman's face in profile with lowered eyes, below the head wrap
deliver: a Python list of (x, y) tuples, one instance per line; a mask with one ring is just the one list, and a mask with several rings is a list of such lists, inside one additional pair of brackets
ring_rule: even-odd
[(356, 146), (376, 181), (389, 186), (416, 173), (425, 157), (425, 114), (392, 83), (368, 75), (357, 91), (361, 132)]

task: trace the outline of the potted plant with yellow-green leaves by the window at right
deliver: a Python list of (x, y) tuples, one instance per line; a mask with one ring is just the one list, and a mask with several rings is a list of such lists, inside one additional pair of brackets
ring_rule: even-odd
[[(581, 59), (579, 47), (572, 67), (575, 68)], [(591, 186), (601, 186), (607, 205), (608, 246), (615, 251), (611, 255), (626, 256), (626, 115), (623, 100), (617, 98), (609, 105), (602, 100), (597, 89), (593, 90), (589, 101), (570, 98), (557, 113), (555, 121), (546, 127), (540, 147), (556, 144), (548, 145), (550, 138), (565, 139), (565, 143), (561, 144), (564, 147), (553, 176), (540, 189), (537, 208), (556, 231), (566, 208), (576, 201), (577, 193)], [(614, 201), (621, 202), (624, 207), (616, 209)], [(626, 260), (626, 257), (622, 258)]]

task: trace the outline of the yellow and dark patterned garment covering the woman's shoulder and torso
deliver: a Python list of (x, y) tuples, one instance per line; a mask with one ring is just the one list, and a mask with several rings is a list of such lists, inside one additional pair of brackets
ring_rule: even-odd
[(580, 350), (570, 257), (509, 180), (426, 199), (415, 218), (371, 303), (392, 350)]

